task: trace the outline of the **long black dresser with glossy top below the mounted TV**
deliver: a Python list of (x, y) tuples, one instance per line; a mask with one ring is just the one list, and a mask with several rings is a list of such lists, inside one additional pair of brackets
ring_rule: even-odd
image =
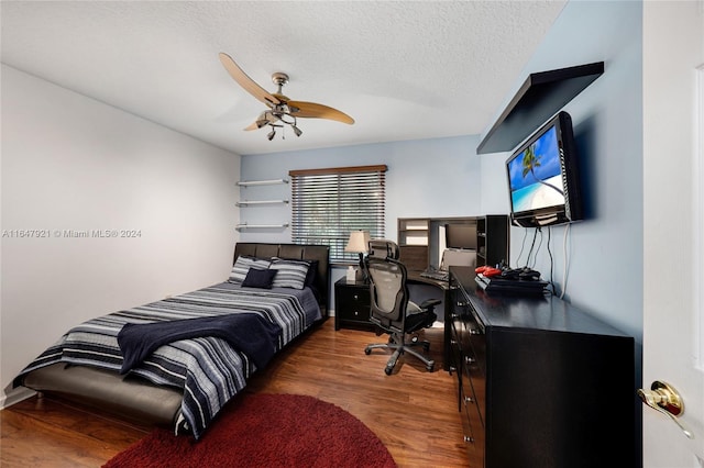
[(451, 267), (451, 366), (471, 467), (637, 465), (635, 343), (553, 297)]

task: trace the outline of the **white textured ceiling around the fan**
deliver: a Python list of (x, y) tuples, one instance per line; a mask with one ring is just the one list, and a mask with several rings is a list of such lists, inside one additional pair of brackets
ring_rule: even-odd
[[(483, 133), (564, 1), (6, 1), (2, 63), (241, 155)], [(302, 136), (224, 70), (339, 109)], [(569, 64), (568, 64), (569, 65)], [(539, 71), (539, 70), (536, 70)]]

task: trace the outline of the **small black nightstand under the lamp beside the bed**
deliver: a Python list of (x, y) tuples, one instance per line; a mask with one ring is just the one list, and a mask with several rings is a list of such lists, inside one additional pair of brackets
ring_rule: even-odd
[(334, 330), (374, 330), (370, 322), (370, 285), (340, 278), (334, 283)]

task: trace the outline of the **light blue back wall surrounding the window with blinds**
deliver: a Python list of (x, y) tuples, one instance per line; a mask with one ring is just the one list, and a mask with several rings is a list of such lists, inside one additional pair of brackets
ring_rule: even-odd
[[(334, 124), (334, 123), (331, 123)], [(288, 178), (292, 169), (385, 164), (386, 236), (396, 238), (396, 219), (471, 216), (482, 213), (477, 136), (419, 140), (242, 157), (246, 180)], [(241, 188), (240, 198), (288, 198), (287, 186)], [(508, 205), (506, 200), (505, 205)], [(506, 212), (506, 208), (502, 210)], [(273, 223), (290, 219), (288, 205), (243, 208), (241, 220)], [(242, 242), (290, 242), (290, 231), (243, 231)]]

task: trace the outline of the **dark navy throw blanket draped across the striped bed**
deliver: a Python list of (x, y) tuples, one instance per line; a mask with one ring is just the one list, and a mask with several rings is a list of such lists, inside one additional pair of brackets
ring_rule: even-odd
[(125, 323), (118, 334), (123, 363), (120, 374), (140, 366), (156, 348), (180, 339), (215, 336), (244, 353), (263, 369), (274, 357), (282, 327), (258, 314), (243, 313), (145, 324)]

